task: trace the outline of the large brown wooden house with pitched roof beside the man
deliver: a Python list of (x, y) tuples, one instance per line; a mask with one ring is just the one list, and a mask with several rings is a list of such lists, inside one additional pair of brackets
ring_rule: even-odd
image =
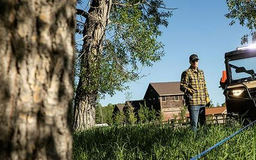
[(147, 107), (161, 110), (164, 120), (172, 119), (185, 105), (184, 92), (179, 88), (180, 82), (149, 83), (143, 99)]

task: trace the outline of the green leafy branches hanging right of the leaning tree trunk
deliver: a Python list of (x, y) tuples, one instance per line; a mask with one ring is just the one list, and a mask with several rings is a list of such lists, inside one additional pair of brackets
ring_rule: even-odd
[[(177, 9), (166, 8), (159, 0), (113, 1), (111, 5), (96, 87), (103, 96), (126, 89), (124, 83), (143, 77), (140, 68), (152, 67), (163, 57), (163, 44), (157, 40), (161, 35), (159, 27), (167, 27), (171, 10)], [(82, 10), (77, 14), (91, 16)], [(78, 22), (78, 33), (82, 33), (84, 25)]]

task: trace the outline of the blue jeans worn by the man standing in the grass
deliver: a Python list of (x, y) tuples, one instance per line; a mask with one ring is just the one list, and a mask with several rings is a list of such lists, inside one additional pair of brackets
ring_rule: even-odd
[(191, 128), (196, 132), (198, 123), (205, 124), (205, 105), (188, 106), (188, 111)]

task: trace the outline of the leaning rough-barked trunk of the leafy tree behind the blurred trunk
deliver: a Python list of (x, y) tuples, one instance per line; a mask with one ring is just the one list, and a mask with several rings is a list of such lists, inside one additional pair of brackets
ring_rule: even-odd
[(73, 130), (95, 125), (95, 105), (100, 85), (99, 64), (112, 0), (93, 0), (84, 27), (80, 79), (76, 90)]

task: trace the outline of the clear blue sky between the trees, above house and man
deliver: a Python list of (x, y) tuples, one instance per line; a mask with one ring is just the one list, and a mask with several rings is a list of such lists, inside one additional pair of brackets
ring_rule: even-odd
[(106, 96), (100, 100), (103, 106), (108, 103), (122, 103), (125, 93), (131, 92), (132, 100), (143, 99), (150, 82), (180, 81), (182, 71), (189, 67), (190, 54), (198, 55), (198, 67), (204, 71), (210, 99), (223, 103), (222, 89), (218, 88), (222, 70), (225, 70), (224, 53), (241, 46), (241, 37), (249, 33), (246, 27), (236, 23), (228, 24), (224, 15), (228, 13), (223, 0), (165, 0), (166, 7), (178, 8), (168, 18), (168, 27), (162, 27), (159, 41), (164, 44), (165, 55), (152, 68), (143, 68), (142, 73), (149, 74), (136, 82), (127, 83), (129, 90), (117, 92), (115, 96)]

